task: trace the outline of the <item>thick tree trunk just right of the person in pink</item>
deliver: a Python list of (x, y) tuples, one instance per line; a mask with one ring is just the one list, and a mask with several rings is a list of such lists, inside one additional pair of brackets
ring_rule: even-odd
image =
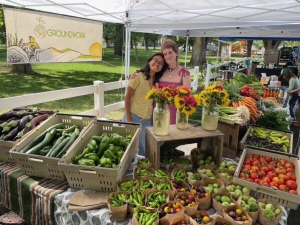
[(195, 37), (189, 65), (202, 65), (206, 62), (206, 45), (210, 37)]

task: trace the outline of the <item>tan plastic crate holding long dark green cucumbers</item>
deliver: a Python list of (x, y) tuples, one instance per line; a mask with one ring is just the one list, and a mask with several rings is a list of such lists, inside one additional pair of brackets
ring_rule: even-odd
[[(9, 153), (26, 175), (65, 180), (63, 171), (61, 171), (58, 168), (58, 161), (60, 158), (53, 158), (35, 154), (26, 154), (21, 153), (20, 150), (23, 149), (23, 147), (25, 147), (36, 136), (38, 136), (48, 127), (56, 123), (63, 123), (66, 127), (77, 125), (80, 130), (84, 127), (87, 130), (88, 126), (90, 126), (92, 124), (92, 121), (95, 121), (95, 119), (95, 116), (89, 115), (56, 113), (49, 119), (47, 119), (45, 122), (40, 124), (38, 128), (31, 133), (30, 136), (28, 136), (26, 139), (22, 140), (17, 145), (15, 145), (9, 151)], [(80, 136), (82, 136), (83, 134), (84, 132), (82, 132)], [(77, 137), (77, 139), (79, 139), (80, 136)], [(74, 143), (75, 142), (76, 140), (74, 141)], [(70, 148), (72, 147), (72, 145), (70, 146)]]

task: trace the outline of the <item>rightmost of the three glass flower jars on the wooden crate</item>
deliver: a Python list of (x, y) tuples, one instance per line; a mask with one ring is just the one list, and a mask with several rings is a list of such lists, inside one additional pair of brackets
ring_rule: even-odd
[(215, 130), (218, 121), (218, 105), (203, 104), (201, 127), (205, 130)]

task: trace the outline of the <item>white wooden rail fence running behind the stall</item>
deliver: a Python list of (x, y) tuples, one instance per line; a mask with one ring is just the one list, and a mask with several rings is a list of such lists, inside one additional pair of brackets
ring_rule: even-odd
[[(252, 57), (249, 58), (252, 60)], [(243, 61), (243, 59), (235, 60), (235, 62), (237, 63), (240, 61)], [(222, 64), (224, 63), (218, 63), (217, 65), (208, 64), (207, 67), (211, 66), (211, 68), (216, 68)], [(191, 74), (193, 74), (191, 88), (192, 90), (195, 91), (198, 85), (199, 66), (195, 66), (193, 69), (189, 69), (188, 71)], [(209, 77), (208, 81), (216, 77), (216, 75), (210, 76), (209, 72), (210, 70), (207, 69), (207, 74), (208, 74), (207, 78)], [(104, 113), (124, 108), (124, 101), (119, 101), (104, 106), (104, 91), (119, 89), (125, 86), (126, 86), (125, 80), (110, 82), (110, 83), (104, 83), (103, 81), (97, 80), (93, 82), (93, 85), (89, 85), (89, 86), (81, 86), (81, 87), (74, 87), (68, 89), (26, 94), (26, 95), (20, 95), (15, 97), (7, 97), (7, 98), (0, 99), (0, 110), (20, 107), (25, 105), (31, 105), (31, 104), (38, 104), (38, 103), (43, 103), (48, 101), (60, 100), (69, 97), (77, 97), (77, 96), (93, 93), (94, 108), (88, 111), (80, 112), (79, 114), (95, 115), (98, 118), (102, 118), (104, 117)]]

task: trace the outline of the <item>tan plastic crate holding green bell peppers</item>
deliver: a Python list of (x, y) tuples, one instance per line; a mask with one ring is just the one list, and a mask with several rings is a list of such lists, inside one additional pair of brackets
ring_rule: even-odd
[[(63, 170), (69, 186), (78, 189), (116, 191), (117, 181), (124, 177), (134, 157), (140, 130), (141, 125), (139, 123), (96, 120), (58, 162), (58, 166)], [(83, 151), (93, 135), (99, 136), (103, 132), (107, 132), (109, 135), (119, 133), (123, 136), (134, 132), (134, 136), (116, 168), (70, 164), (73, 162), (74, 156)]]

